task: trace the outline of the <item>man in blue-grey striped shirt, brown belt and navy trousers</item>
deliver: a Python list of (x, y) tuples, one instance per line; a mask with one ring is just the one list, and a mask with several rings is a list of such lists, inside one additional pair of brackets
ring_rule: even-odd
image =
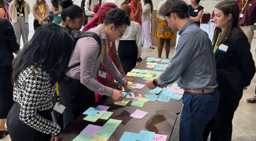
[(178, 32), (176, 54), (166, 71), (157, 79), (148, 81), (147, 87), (163, 88), (177, 80), (185, 90), (180, 121), (180, 140), (203, 140), (204, 126), (215, 115), (219, 93), (215, 89), (216, 66), (208, 34), (189, 20), (187, 4), (182, 0), (167, 0), (160, 8), (168, 25)]

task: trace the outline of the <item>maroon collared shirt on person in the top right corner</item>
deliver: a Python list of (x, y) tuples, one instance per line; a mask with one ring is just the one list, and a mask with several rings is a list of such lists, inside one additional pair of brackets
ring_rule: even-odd
[[(236, 0), (236, 3), (239, 7), (239, 12), (242, 12), (242, 1), (243, 0)], [(243, 6), (245, 5), (246, 1), (243, 2)], [(239, 24), (254, 24), (256, 23), (256, 1), (255, 0), (248, 0), (247, 4), (243, 10), (243, 17), (239, 18)]]

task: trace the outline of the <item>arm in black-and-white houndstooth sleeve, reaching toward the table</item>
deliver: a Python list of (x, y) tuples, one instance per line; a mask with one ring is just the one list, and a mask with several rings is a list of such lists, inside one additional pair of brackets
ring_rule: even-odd
[(24, 93), (20, 104), (20, 120), (41, 133), (57, 136), (61, 132), (61, 127), (37, 114), (37, 108), (41, 106), (39, 102), (46, 97), (45, 88), (49, 87), (44, 78), (47, 75), (37, 70), (27, 70), (23, 74), (25, 77), (21, 78), (24, 78), (22, 81)]

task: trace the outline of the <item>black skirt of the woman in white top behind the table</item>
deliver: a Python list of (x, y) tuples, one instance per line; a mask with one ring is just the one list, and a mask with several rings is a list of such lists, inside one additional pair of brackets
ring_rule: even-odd
[(136, 66), (138, 46), (135, 40), (121, 40), (118, 46), (118, 57), (124, 73), (130, 72)]

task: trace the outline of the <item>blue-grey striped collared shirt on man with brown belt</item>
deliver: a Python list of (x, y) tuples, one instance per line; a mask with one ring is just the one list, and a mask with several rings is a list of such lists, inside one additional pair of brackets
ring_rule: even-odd
[(202, 90), (218, 86), (211, 40), (194, 21), (187, 22), (180, 32), (176, 53), (166, 71), (157, 78), (160, 85), (176, 80), (184, 89)]

